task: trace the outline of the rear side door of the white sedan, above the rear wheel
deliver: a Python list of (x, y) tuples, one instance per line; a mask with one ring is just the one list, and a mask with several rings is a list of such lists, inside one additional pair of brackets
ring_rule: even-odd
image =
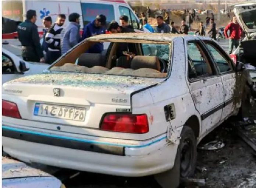
[(201, 135), (211, 131), (221, 119), (224, 89), (210, 54), (199, 40), (186, 43), (189, 89), (201, 119)]

